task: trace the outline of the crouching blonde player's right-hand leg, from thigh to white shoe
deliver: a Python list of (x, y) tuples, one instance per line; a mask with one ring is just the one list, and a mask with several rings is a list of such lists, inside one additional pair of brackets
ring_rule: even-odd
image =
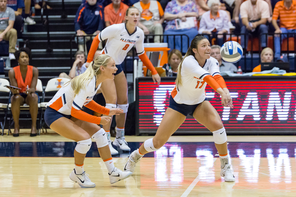
[(97, 124), (82, 121), (74, 117), (72, 117), (71, 120), (84, 131), (89, 133), (92, 139), (96, 140), (100, 157), (103, 159), (109, 172), (110, 183), (115, 183), (132, 175), (131, 172), (122, 172), (114, 166), (110, 148), (107, 143), (107, 135), (104, 129), (100, 128)]

